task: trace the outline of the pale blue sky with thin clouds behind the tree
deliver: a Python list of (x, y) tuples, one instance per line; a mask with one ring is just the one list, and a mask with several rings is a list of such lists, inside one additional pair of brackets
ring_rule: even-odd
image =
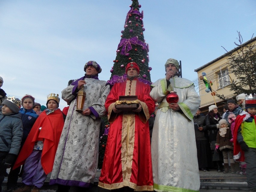
[[(107, 81), (130, 0), (0, 1), (0, 76), (7, 95), (29, 93), (45, 105), (95, 60)], [(168, 58), (182, 62), (182, 77), (235, 48), (237, 32), (256, 32), (255, 0), (140, 0), (149, 44), (151, 81), (164, 78)], [(254, 35), (255, 36), (255, 35)], [(60, 108), (66, 102), (60, 101)]]

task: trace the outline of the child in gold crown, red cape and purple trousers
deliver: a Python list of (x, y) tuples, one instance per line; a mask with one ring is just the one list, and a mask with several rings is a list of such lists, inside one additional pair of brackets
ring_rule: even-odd
[[(47, 96), (47, 108), (35, 121), (13, 169), (24, 164), (23, 186), (14, 192), (38, 192), (53, 169), (54, 157), (64, 125), (59, 95)], [(33, 189), (31, 190), (31, 187)]]

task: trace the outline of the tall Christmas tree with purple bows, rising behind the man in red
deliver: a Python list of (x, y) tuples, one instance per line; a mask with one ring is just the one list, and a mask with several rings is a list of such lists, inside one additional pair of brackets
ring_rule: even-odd
[(110, 85), (126, 80), (125, 67), (129, 62), (136, 62), (140, 68), (139, 81), (151, 85), (150, 71), (148, 67), (148, 44), (145, 43), (145, 31), (143, 25), (143, 11), (140, 13), (138, 0), (133, 0), (130, 11), (126, 15), (124, 29), (121, 31), (121, 40), (117, 46), (114, 66), (110, 70)]

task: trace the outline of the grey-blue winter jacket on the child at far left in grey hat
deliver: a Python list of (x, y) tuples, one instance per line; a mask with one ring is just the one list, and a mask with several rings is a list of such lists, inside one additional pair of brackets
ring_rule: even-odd
[(23, 126), (20, 114), (4, 115), (0, 111), (0, 151), (17, 155), (22, 135)]

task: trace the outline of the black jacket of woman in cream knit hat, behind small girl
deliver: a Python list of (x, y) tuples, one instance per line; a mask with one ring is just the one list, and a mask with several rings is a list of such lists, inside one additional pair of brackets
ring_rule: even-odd
[(206, 115), (205, 122), (206, 122), (206, 128), (209, 132), (209, 141), (216, 141), (217, 133), (218, 133), (218, 127), (219, 127), (219, 117), (216, 119), (213, 117), (213, 120), (210, 118), (209, 115)]

